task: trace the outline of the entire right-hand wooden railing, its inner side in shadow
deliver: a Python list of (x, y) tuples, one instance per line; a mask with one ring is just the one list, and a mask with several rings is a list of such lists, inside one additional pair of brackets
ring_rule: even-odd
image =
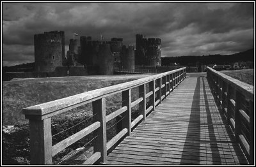
[(250, 164), (254, 161), (253, 86), (207, 67), (214, 96)]

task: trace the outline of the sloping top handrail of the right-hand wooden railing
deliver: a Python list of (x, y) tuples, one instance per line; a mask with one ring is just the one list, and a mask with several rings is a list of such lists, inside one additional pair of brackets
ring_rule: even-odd
[(253, 95), (253, 86), (249, 85), (248, 83), (241, 82), (237, 80), (236, 78), (232, 78), (231, 76), (225, 75), (224, 73), (221, 73), (219, 71), (216, 71), (212, 68), (207, 67), (210, 71), (215, 73), (216, 75), (220, 76), (222, 80), (227, 82), (228, 84), (232, 85), (235, 89), (239, 90), (241, 94), (244, 96), (250, 98), (253, 100), (254, 95)]

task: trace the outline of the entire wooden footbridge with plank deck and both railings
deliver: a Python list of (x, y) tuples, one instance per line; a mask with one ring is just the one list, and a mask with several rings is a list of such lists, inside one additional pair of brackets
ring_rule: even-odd
[[(131, 101), (135, 87), (139, 97)], [(120, 92), (122, 108), (106, 115), (106, 97)], [(214, 69), (206, 77), (180, 68), (24, 108), (31, 164), (52, 164), (52, 156), (93, 131), (94, 154), (79, 164), (255, 164), (253, 96), (252, 86)], [(87, 103), (97, 115), (93, 124), (52, 145), (51, 117)], [(136, 105), (142, 107), (132, 121)], [(118, 115), (120, 132), (107, 142), (106, 123)]]

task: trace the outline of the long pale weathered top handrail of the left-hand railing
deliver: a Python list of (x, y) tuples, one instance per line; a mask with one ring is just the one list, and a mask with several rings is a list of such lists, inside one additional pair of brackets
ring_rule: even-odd
[[(85, 105), (86, 103), (90, 103), (97, 99), (104, 98), (106, 96), (110, 96), (111, 94), (123, 92), (125, 90), (132, 89), (133, 87), (138, 87), (140, 85), (143, 85), (144, 83), (148, 83), (152, 80), (156, 80), (157, 78), (160, 78), (160, 77), (168, 75), (168, 74), (175, 73), (182, 69), (186, 69), (186, 67), (175, 69), (175, 70), (168, 71), (165, 73), (160, 73), (160, 74), (153, 75), (153, 76), (148, 76), (145, 78), (140, 78), (138, 80), (133, 80), (131, 82), (125, 82), (125, 83), (120, 83), (118, 85), (95, 89), (93, 91), (76, 94), (74, 96), (69, 96), (67, 98), (61, 98), (61, 99), (57, 99), (54, 101), (49, 101), (47, 103), (42, 103), (40, 105), (29, 106), (27, 108), (23, 108), (22, 113), (24, 115), (38, 115), (38, 116), (39, 115), (43, 116), (43, 115), (47, 115), (47, 114), (51, 113), (51, 117), (52, 117), (54, 115), (59, 114), (60, 112), (58, 112), (58, 111), (63, 110), (65, 108), (72, 107), (79, 103), (83, 103), (83, 105)], [(76, 107), (77, 106), (74, 106), (74, 108), (76, 108)], [(71, 109), (72, 108), (68, 108), (68, 110), (71, 110)], [(54, 114), (54, 112), (56, 112), (56, 114)], [(62, 112), (65, 112), (65, 111), (62, 111)], [(44, 118), (47, 118), (47, 117), (44, 117)]]

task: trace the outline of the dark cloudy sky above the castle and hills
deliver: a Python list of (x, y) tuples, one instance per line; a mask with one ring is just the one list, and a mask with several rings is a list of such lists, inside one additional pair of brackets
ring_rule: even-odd
[[(34, 62), (34, 34), (65, 31), (93, 40), (135, 34), (162, 39), (162, 57), (234, 54), (253, 48), (254, 3), (4, 3), (3, 66)], [(78, 36), (78, 38), (79, 38)], [(77, 37), (76, 37), (77, 38)]]

